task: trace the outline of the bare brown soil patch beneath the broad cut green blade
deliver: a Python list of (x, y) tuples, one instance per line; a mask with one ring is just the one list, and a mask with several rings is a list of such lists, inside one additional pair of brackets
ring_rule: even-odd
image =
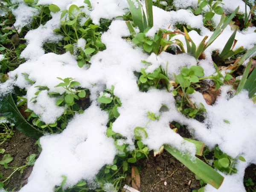
[(157, 157), (151, 151), (148, 160), (138, 164), (140, 192), (192, 192), (201, 187), (195, 174), (166, 151)]

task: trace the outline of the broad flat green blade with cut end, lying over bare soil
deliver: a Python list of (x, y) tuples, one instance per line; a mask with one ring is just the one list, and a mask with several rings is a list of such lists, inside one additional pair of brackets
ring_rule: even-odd
[(198, 177), (216, 189), (223, 183), (224, 177), (197, 157), (194, 157), (195, 160), (192, 161), (192, 157), (189, 154), (181, 154), (180, 151), (171, 148), (169, 145), (164, 145), (164, 148), (195, 175), (198, 175)]

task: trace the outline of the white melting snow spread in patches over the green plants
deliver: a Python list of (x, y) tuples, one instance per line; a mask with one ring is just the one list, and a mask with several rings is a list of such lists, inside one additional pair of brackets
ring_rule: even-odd
[[(198, 45), (205, 35), (211, 36), (212, 32), (204, 27), (202, 15), (195, 16), (185, 10), (189, 6), (195, 9), (197, 2), (198, 0), (174, 0), (175, 7), (182, 8), (177, 12), (166, 12), (153, 7), (154, 26), (147, 35), (154, 36), (159, 28), (168, 29), (170, 26), (169, 30), (174, 30), (178, 23), (186, 24), (201, 30), (200, 35), (193, 30), (189, 32), (192, 40)], [(224, 11), (232, 12), (241, 5), (241, 2), (242, 0), (232, 0), (232, 2), (223, 0), (227, 5), (232, 4), (229, 7), (223, 6)], [(82, 0), (38, 1), (38, 4), (51, 3), (58, 5), (61, 10), (67, 9), (72, 4), (84, 6), (81, 10), (86, 12), (95, 24), (99, 24), (100, 18), (113, 19), (124, 15), (128, 8), (126, 0), (91, 0), (92, 10), (89, 10)], [(24, 12), (23, 9), (26, 11)], [(243, 12), (244, 9), (240, 6), (240, 10)], [(21, 2), (14, 10), (14, 14), (17, 17), (15, 26), (21, 28), (31, 22), (32, 15), (38, 13), (34, 12), (34, 8)], [(131, 150), (134, 149), (134, 128), (144, 127), (147, 124), (148, 111), (156, 113), (160, 115), (160, 119), (149, 122), (145, 128), (148, 137), (143, 139), (143, 143), (149, 150), (159, 149), (163, 144), (170, 144), (193, 156), (195, 145), (183, 140), (179, 134), (169, 128), (169, 122), (172, 121), (187, 125), (194, 137), (203, 141), (208, 147), (213, 148), (218, 145), (223, 152), (233, 158), (243, 155), (246, 162), (237, 164), (237, 174), (225, 176), (220, 191), (244, 191), (244, 169), (250, 163), (256, 163), (256, 149), (253, 147), (256, 146), (254, 140), (256, 106), (246, 92), (227, 99), (230, 86), (222, 86), (221, 96), (213, 106), (207, 105), (202, 94), (196, 92), (191, 95), (191, 98), (193, 102), (202, 103), (205, 106), (207, 117), (202, 123), (195, 119), (188, 119), (177, 111), (172, 93), (156, 89), (150, 89), (147, 93), (140, 92), (134, 71), (140, 72), (141, 68), (146, 68), (146, 72), (151, 73), (161, 66), (164, 70), (167, 69), (169, 79), (174, 80), (173, 73), (179, 74), (181, 67), (197, 64), (198, 61), (195, 58), (186, 53), (172, 55), (162, 52), (158, 56), (154, 53), (147, 55), (122, 38), (129, 36), (129, 30), (124, 21), (114, 19), (101, 38), (107, 49), (91, 58), (90, 68), (80, 68), (77, 66), (76, 56), (69, 52), (63, 55), (45, 54), (42, 48), (44, 43), (57, 43), (62, 40), (61, 35), (52, 32), (53, 29), (60, 27), (60, 14), (60, 12), (52, 13), (52, 19), (44, 26), (41, 25), (38, 29), (30, 30), (26, 34), (27, 47), (21, 53), (21, 57), (26, 58), (27, 61), (9, 73), (10, 79), (0, 84), (0, 93), (11, 92), (15, 85), (27, 90), (26, 97), (30, 101), (38, 91), (35, 86), (47, 86), (51, 92), (64, 93), (64, 88), (55, 87), (60, 83), (57, 77), (62, 79), (72, 77), (81, 83), (81, 87), (90, 90), (92, 104), (83, 114), (76, 114), (61, 134), (41, 137), (43, 151), (36, 160), (28, 184), (20, 192), (34, 192), (35, 189), (38, 189), (38, 192), (52, 192), (54, 186), (61, 183), (63, 175), (67, 176), (65, 187), (72, 186), (81, 179), (93, 182), (102, 166), (113, 163), (113, 158), (119, 151), (116, 151), (113, 139), (105, 135), (108, 114), (99, 108), (97, 102), (98, 96), (103, 94), (102, 91), (105, 88), (111, 89), (111, 85), (115, 87), (114, 95), (122, 102), (122, 106), (118, 108), (120, 116), (113, 122), (112, 129), (127, 138), (120, 140), (119, 144), (127, 143)], [(22, 18), (26, 19), (22, 20)], [(214, 17), (216, 24), (218, 21), (219, 17)], [(212, 51), (216, 49), (221, 51), (232, 33), (230, 26), (227, 26), (227, 29), (205, 51), (206, 60), (199, 61), (199, 65), (204, 68), (205, 76), (215, 72), (211, 58)], [(182, 41), (186, 49), (184, 36), (177, 35), (175, 38)], [(247, 32), (237, 32), (236, 39), (238, 42), (235, 49), (240, 46), (250, 49), (256, 43), (254, 28), (249, 27)], [(77, 46), (83, 49), (85, 44), (84, 39), (79, 39)], [(151, 65), (143, 64), (142, 60), (150, 62)], [(27, 73), (29, 79), (35, 84), (32, 85), (26, 81), (22, 73)], [(105, 93), (104, 96), (111, 95)], [(41, 91), (36, 100), (36, 103), (28, 102), (28, 108), (46, 124), (54, 123), (64, 113), (65, 107), (56, 106), (57, 99), (50, 98), (47, 90)], [(162, 105), (166, 105), (169, 111), (159, 112)], [(225, 123), (224, 120), (228, 120), (230, 124)], [(111, 184), (106, 184), (106, 188), (110, 190)], [(215, 189), (209, 185), (206, 189), (207, 192), (215, 192)]]

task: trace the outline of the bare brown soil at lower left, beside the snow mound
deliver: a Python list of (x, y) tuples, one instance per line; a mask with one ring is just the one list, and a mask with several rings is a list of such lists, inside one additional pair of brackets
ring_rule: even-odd
[[(25, 165), (26, 157), (31, 154), (39, 154), (37, 145), (35, 145), (35, 139), (29, 138), (26, 135), (22, 134), (20, 131), (15, 130), (15, 134), (9, 141), (3, 143), (0, 148), (4, 148), (6, 151), (4, 154), (11, 154), (14, 159), (11, 163), (8, 163), (9, 167), (20, 167)], [(2, 159), (4, 154), (0, 154), (0, 159)], [(18, 191), (21, 186), (24, 186), (27, 183), (27, 178), (32, 172), (32, 166), (24, 169), (23, 173), (15, 172), (14, 175), (9, 180), (6, 190), (12, 191), (15, 188), (15, 191)], [(0, 165), (0, 173), (3, 174), (3, 177), (8, 177), (13, 172), (13, 169), (5, 169)], [(6, 183), (5, 183), (6, 184)]]

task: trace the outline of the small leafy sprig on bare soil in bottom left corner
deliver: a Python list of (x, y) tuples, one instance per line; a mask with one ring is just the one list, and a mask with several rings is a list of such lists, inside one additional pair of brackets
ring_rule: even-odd
[(8, 160), (8, 161), (6, 161), (4, 163), (4, 168), (13, 169), (13, 172), (11, 175), (9, 175), (8, 177), (5, 177), (5, 178), (3, 178), (2, 174), (0, 175), (0, 178), (2, 178), (2, 180), (3, 180), (3, 181), (0, 181), (0, 188), (3, 188), (4, 185), (6, 184), (6, 182), (7, 183), (9, 182), (9, 179), (12, 177), (12, 175), (15, 172), (19, 171), (20, 173), (23, 173), (24, 169), (26, 169), (28, 166), (33, 166), (35, 164), (36, 156), (37, 156), (36, 154), (31, 154), (31, 155), (29, 155), (29, 157), (26, 157), (26, 164), (23, 166), (20, 166), (20, 167), (9, 167), (7, 164), (12, 161), (13, 157), (11, 157), (10, 155), (8, 157), (6, 157), (6, 160)]

